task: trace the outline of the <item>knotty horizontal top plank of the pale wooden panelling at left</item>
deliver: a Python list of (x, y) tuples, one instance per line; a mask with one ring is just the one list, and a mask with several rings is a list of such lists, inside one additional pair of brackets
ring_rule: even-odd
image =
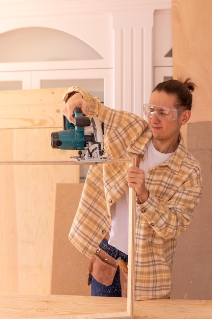
[(63, 127), (67, 88), (0, 92), (1, 128)]

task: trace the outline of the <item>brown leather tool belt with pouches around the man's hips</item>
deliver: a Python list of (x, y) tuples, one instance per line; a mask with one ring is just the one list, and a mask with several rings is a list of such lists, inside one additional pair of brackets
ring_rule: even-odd
[[(124, 267), (123, 267), (124, 266)], [(120, 286), (122, 288), (122, 297), (127, 297), (127, 264), (123, 259), (117, 260), (111, 257), (100, 247), (88, 264), (88, 285), (91, 283), (91, 275), (105, 286), (113, 283), (117, 268), (120, 273)]]

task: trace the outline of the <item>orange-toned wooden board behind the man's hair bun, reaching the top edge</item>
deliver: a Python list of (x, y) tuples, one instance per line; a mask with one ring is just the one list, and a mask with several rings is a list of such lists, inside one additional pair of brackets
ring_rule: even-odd
[(211, 0), (172, 0), (173, 77), (191, 77), (197, 85), (190, 123), (212, 121)]

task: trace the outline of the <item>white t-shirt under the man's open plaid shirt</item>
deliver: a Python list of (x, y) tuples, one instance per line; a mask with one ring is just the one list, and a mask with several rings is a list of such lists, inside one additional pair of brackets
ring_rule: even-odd
[[(152, 140), (146, 149), (145, 159), (140, 163), (139, 168), (147, 172), (160, 163), (165, 162), (173, 153), (161, 153), (155, 149)], [(111, 207), (112, 222), (109, 231), (110, 239), (108, 244), (128, 254), (128, 212), (129, 212), (129, 189)], [(136, 206), (136, 218), (137, 218)]]

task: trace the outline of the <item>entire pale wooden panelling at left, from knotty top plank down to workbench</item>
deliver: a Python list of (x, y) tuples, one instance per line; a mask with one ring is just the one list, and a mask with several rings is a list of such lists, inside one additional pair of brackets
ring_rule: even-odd
[[(78, 165), (63, 164), (76, 151), (52, 149), (50, 142), (51, 132), (62, 129), (65, 90), (0, 92), (0, 290), (4, 292), (51, 292), (56, 185), (79, 182)], [(54, 161), (57, 164), (49, 164)]]

